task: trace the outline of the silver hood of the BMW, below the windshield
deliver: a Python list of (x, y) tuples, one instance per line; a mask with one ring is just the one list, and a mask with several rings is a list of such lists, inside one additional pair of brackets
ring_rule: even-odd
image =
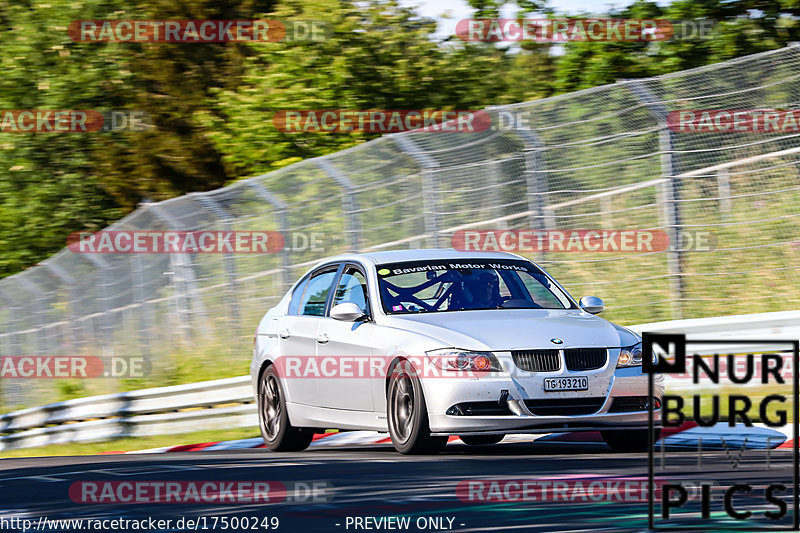
[[(389, 315), (386, 325), (432, 337), (448, 347), (522, 350), (630, 346), (629, 330), (580, 309), (492, 309)], [(561, 339), (555, 344), (551, 339)]]

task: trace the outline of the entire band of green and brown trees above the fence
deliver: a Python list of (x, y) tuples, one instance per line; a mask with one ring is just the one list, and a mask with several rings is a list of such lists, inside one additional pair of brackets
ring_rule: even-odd
[[(470, 0), (474, 17), (506, 12)], [(539, 0), (517, 16), (553, 15)], [(374, 138), (284, 133), (287, 109), (480, 109), (710, 64), (800, 40), (796, 0), (638, 0), (615, 17), (719, 21), (707, 40), (502, 45), (437, 42), (435, 21), (396, 0), (0, 0), (0, 109), (146, 111), (154, 128), (0, 133), (0, 276), (99, 229), (143, 198), (209, 190)], [(73, 42), (81, 19), (325, 21), (325, 41), (227, 44)], [(555, 51), (563, 53), (554, 53)], [(560, 54), (560, 55), (559, 55)], [(287, 176), (293, 176), (292, 173)], [(326, 182), (279, 192), (298, 202)]]

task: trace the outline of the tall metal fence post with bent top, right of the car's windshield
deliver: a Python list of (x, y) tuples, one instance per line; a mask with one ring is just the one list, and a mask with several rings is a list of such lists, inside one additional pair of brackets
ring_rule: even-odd
[(660, 187), (661, 201), (664, 216), (664, 225), (667, 227), (670, 247), (667, 250), (667, 272), (669, 273), (670, 292), (672, 293), (672, 318), (677, 320), (683, 317), (683, 253), (679, 249), (681, 213), (680, 196), (681, 183), (678, 178), (678, 161), (674, 153), (675, 138), (672, 130), (667, 126), (669, 111), (650, 89), (641, 80), (627, 81), (624, 85), (633, 95), (650, 111), (659, 125), (658, 148), (661, 159), (661, 177), (666, 181)]

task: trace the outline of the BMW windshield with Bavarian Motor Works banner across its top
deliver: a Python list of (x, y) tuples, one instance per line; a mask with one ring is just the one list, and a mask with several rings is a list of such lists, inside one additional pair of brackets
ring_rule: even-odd
[(378, 265), (377, 271), (388, 314), (574, 307), (564, 291), (528, 261), (407, 261)]

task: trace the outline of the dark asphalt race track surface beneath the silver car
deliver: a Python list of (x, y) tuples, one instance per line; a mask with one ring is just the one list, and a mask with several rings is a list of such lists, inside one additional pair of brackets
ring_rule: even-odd
[[(673, 469), (667, 475), (681, 479), (712, 481), (718, 485), (750, 482), (754, 494), (764, 485), (781, 482), (789, 512), (779, 523), (785, 528), (793, 518), (792, 451), (773, 450), (769, 469), (763, 451), (748, 450), (737, 468), (732, 459), (738, 450), (705, 452), (697, 468), (697, 454), (669, 453), (666, 461)], [(658, 464), (658, 461), (656, 462)], [(433, 456), (403, 456), (390, 446), (343, 446), (337, 449), (312, 449), (301, 453), (273, 453), (265, 449), (225, 452), (191, 452), (144, 455), (101, 455), (0, 460), (0, 518), (27, 517), (34, 522), (68, 518), (183, 518), (278, 517), (277, 531), (646, 531), (646, 501), (527, 501), (470, 502), (459, 499), (460, 481), (474, 479), (543, 479), (647, 476), (647, 454), (610, 452), (603, 444), (587, 447), (558, 443), (501, 443), (470, 447), (451, 443), (444, 453)], [(288, 502), (272, 504), (192, 503), (192, 504), (83, 504), (69, 497), (76, 481), (325, 481), (335, 489), (327, 502)], [(761, 492), (759, 492), (761, 490)], [(763, 503), (763, 498), (760, 500)], [(740, 499), (737, 504), (745, 507)], [(757, 504), (756, 500), (750, 503)], [(692, 503), (690, 502), (690, 505)], [(755, 508), (758, 508), (756, 505)], [(762, 509), (767, 509), (764, 505)], [(660, 507), (658, 507), (660, 509)], [(358, 528), (348, 526), (348, 517), (410, 517), (408, 529)], [(699, 516), (693, 512), (690, 518)], [(755, 515), (754, 515), (755, 516)], [(761, 516), (758, 514), (757, 516)], [(420, 529), (419, 517), (449, 517), (451, 529)], [(718, 496), (712, 501), (711, 520), (695, 522), (696, 531), (717, 531), (735, 526), (750, 531), (752, 521), (727, 520)], [(788, 521), (788, 524), (787, 524)], [(670, 522), (685, 525), (690, 522)], [(761, 524), (777, 525), (762, 521)], [(219, 524), (219, 522), (218, 522)], [(661, 527), (667, 522), (656, 522)], [(206, 522), (206, 531), (212, 531)], [(3, 530), (19, 528), (5, 524)], [(198, 526), (199, 530), (203, 530)], [(34, 529), (37, 530), (37, 529)], [(42, 531), (43, 529), (38, 529)], [(74, 531), (75, 529), (49, 529)], [(222, 529), (214, 531), (245, 531)], [(122, 529), (117, 529), (122, 531)], [(146, 529), (146, 531), (181, 531)], [(271, 529), (248, 529), (271, 531)]]

